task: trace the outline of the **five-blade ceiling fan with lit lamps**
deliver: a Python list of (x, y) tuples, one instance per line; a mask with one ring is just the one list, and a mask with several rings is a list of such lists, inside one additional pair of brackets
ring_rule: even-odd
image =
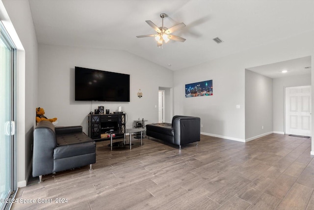
[(163, 18), (166, 17), (166, 14), (165, 13), (161, 13), (160, 17), (162, 19), (162, 26), (161, 27), (157, 27), (152, 21), (146, 21), (146, 23), (148, 25), (150, 25), (154, 30), (157, 31), (157, 34), (140, 35), (140, 36), (136, 36), (136, 37), (137, 38), (142, 38), (142, 37), (155, 36), (155, 39), (157, 41), (157, 47), (160, 47), (163, 42), (167, 43), (170, 39), (172, 39), (174, 41), (184, 42), (185, 41), (184, 38), (182, 38), (180, 36), (172, 35), (170, 33), (185, 27), (185, 24), (184, 23), (179, 23), (179, 24), (171, 27), (170, 29), (167, 29), (166, 27), (163, 26)]

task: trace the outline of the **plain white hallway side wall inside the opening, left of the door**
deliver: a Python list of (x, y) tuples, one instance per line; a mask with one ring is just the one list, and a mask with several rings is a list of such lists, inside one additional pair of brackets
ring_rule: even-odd
[(245, 70), (245, 141), (273, 132), (273, 81)]

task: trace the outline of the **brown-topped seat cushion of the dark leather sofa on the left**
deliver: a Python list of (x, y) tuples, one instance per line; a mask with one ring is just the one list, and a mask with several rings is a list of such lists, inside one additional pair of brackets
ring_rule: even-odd
[(57, 145), (53, 152), (54, 160), (95, 153), (96, 150), (95, 141), (83, 132), (57, 135)]

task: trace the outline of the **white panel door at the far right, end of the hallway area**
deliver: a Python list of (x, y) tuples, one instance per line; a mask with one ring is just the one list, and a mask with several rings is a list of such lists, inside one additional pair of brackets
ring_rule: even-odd
[(311, 136), (311, 86), (287, 87), (286, 134)]

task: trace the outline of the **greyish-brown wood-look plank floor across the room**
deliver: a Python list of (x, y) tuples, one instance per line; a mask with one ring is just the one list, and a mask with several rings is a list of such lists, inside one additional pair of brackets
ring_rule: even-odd
[(270, 134), (241, 143), (201, 135), (198, 146), (182, 150), (156, 139), (134, 141), (132, 150), (110, 151), (108, 143), (97, 143), (93, 171), (86, 166), (28, 183), (16, 198), (35, 204), (12, 209), (314, 209), (311, 139)]

